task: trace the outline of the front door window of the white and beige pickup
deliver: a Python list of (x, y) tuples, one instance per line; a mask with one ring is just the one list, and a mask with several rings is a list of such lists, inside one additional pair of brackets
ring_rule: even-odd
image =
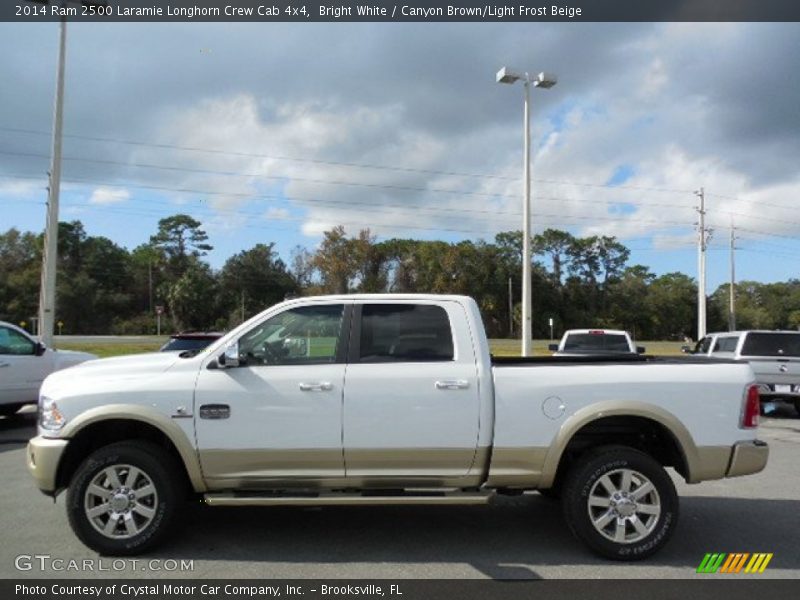
[(336, 362), (343, 304), (291, 308), (256, 325), (239, 339), (239, 363), (247, 366)]

